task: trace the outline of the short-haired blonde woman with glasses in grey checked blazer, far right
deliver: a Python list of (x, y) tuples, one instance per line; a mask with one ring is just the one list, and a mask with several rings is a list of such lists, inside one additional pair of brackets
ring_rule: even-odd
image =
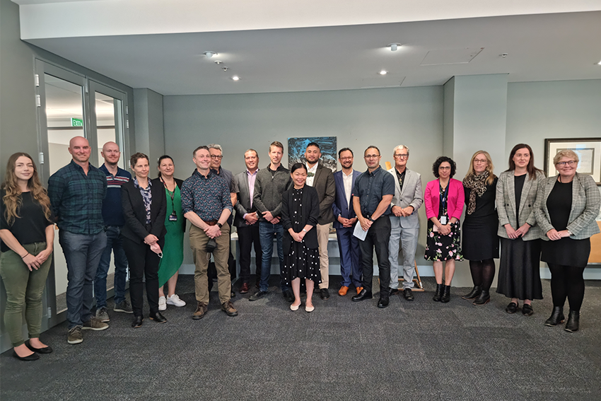
[(570, 302), (565, 330), (575, 332), (584, 298), (583, 273), (590, 255), (590, 237), (599, 232), (595, 219), (601, 194), (590, 175), (576, 173), (578, 155), (560, 151), (553, 158), (559, 174), (539, 186), (535, 214), (542, 232), (541, 260), (551, 270), (553, 312), (544, 322), (555, 326), (564, 321), (564, 303)]

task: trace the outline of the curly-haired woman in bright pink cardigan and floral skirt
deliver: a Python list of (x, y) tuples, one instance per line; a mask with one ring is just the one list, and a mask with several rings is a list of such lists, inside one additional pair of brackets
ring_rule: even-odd
[[(424, 193), (428, 234), (426, 237), (426, 260), (433, 261), (438, 302), (450, 301), (450, 284), (455, 273), (455, 260), (462, 260), (461, 227), (459, 219), (463, 211), (465, 192), (459, 180), (453, 180), (457, 165), (453, 159), (440, 156), (432, 165), (437, 180), (428, 182)], [(445, 284), (443, 284), (443, 261), (445, 261)]]

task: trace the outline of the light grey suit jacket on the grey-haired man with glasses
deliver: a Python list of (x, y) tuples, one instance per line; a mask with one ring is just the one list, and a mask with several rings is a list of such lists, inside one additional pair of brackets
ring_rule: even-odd
[[(390, 207), (399, 206), (402, 208), (412, 206), (413, 213), (408, 217), (399, 217), (402, 228), (415, 228), (419, 227), (419, 216), (417, 209), (424, 203), (424, 192), (421, 190), (421, 174), (416, 173), (413, 170), (407, 168), (405, 170), (405, 180), (403, 182), (403, 190), (399, 186), (399, 180), (397, 180), (397, 173), (395, 168), (388, 170), (388, 173), (392, 174), (395, 178), (395, 196), (392, 197)], [(390, 214), (391, 219), (396, 217), (394, 214)]]

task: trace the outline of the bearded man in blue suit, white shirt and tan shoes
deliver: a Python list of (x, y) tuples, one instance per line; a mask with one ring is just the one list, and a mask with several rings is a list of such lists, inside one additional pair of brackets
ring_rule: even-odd
[(355, 180), (361, 172), (353, 170), (353, 151), (349, 148), (340, 149), (338, 161), (342, 170), (334, 173), (336, 185), (336, 197), (332, 204), (334, 211), (334, 228), (338, 238), (338, 249), (340, 251), (340, 274), (342, 274), (342, 286), (338, 291), (339, 296), (345, 296), (352, 283), (361, 292), (361, 265), (359, 265), (359, 240), (353, 236), (357, 216), (353, 209), (352, 192)]

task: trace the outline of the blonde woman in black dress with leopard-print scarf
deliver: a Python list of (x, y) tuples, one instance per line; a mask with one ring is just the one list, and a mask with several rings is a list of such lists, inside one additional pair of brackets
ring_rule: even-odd
[(498, 214), (495, 209), (496, 183), (491, 155), (477, 151), (463, 179), (465, 219), (463, 220), (463, 257), (469, 260), (474, 289), (463, 299), (474, 305), (491, 300), (489, 290), (494, 279), (494, 259), (498, 259)]

